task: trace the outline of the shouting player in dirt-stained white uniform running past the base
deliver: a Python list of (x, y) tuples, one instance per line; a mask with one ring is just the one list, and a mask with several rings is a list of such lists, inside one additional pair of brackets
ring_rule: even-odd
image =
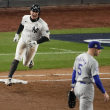
[[(22, 32), (22, 33), (21, 33)], [(19, 39), (19, 34), (21, 37)], [(47, 23), (40, 18), (39, 5), (32, 5), (30, 15), (24, 15), (19, 25), (18, 31), (13, 39), (19, 42), (16, 48), (15, 59), (11, 64), (7, 85), (11, 86), (12, 76), (17, 69), (19, 62), (23, 59), (23, 65), (32, 68), (33, 58), (37, 52), (40, 43), (49, 41), (49, 28)]]

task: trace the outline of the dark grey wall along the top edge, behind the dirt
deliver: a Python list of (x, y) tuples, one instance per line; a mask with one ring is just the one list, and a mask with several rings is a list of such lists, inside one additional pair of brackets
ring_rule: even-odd
[(64, 6), (81, 4), (109, 4), (110, 0), (0, 0), (0, 7)]

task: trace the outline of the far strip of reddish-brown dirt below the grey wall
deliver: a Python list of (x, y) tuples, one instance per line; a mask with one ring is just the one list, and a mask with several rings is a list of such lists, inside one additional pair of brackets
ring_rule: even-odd
[[(1, 8), (0, 32), (17, 31), (22, 16), (30, 8)], [(41, 18), (50, 29), (73, 29), (110, 26), (109, 5), (89, 5), (70, 7), (42, 7)]]

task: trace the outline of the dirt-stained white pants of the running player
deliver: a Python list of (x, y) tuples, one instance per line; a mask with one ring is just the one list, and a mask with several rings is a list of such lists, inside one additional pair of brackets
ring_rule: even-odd
[(27, 42), (20, 39), (16, 47), (15, 59), (18, 61), (22, 61), (23, 59), (23, 65), (28, 66), (30, 61), (34, 58), (38, 46), (39, 44), (37, 44), (35, 47), (29, 47)]

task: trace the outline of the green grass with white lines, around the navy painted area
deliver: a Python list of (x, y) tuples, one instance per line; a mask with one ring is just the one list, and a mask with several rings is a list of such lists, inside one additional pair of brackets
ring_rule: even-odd
[[(51, 30), (51, 34), (74, 34), (74, 33), (110, 33), (110, 28), (83, 28), (67, 30)], [(15, 32), (0, 33), (0, 71), (8, 71), (14, 59), (16, 42), (13, 42)], [(75, 57), (87, 51), (87, 44), (50, 40), (39, 45), (38, 52), (34, 57), (32, 69), (72, 68)], [(98, 57), (95, 57), (100, 66), (110, 65), (110, 47), (105, 47)], [(28, 67), (19, 64), (17, 70), (28, 70)]]

